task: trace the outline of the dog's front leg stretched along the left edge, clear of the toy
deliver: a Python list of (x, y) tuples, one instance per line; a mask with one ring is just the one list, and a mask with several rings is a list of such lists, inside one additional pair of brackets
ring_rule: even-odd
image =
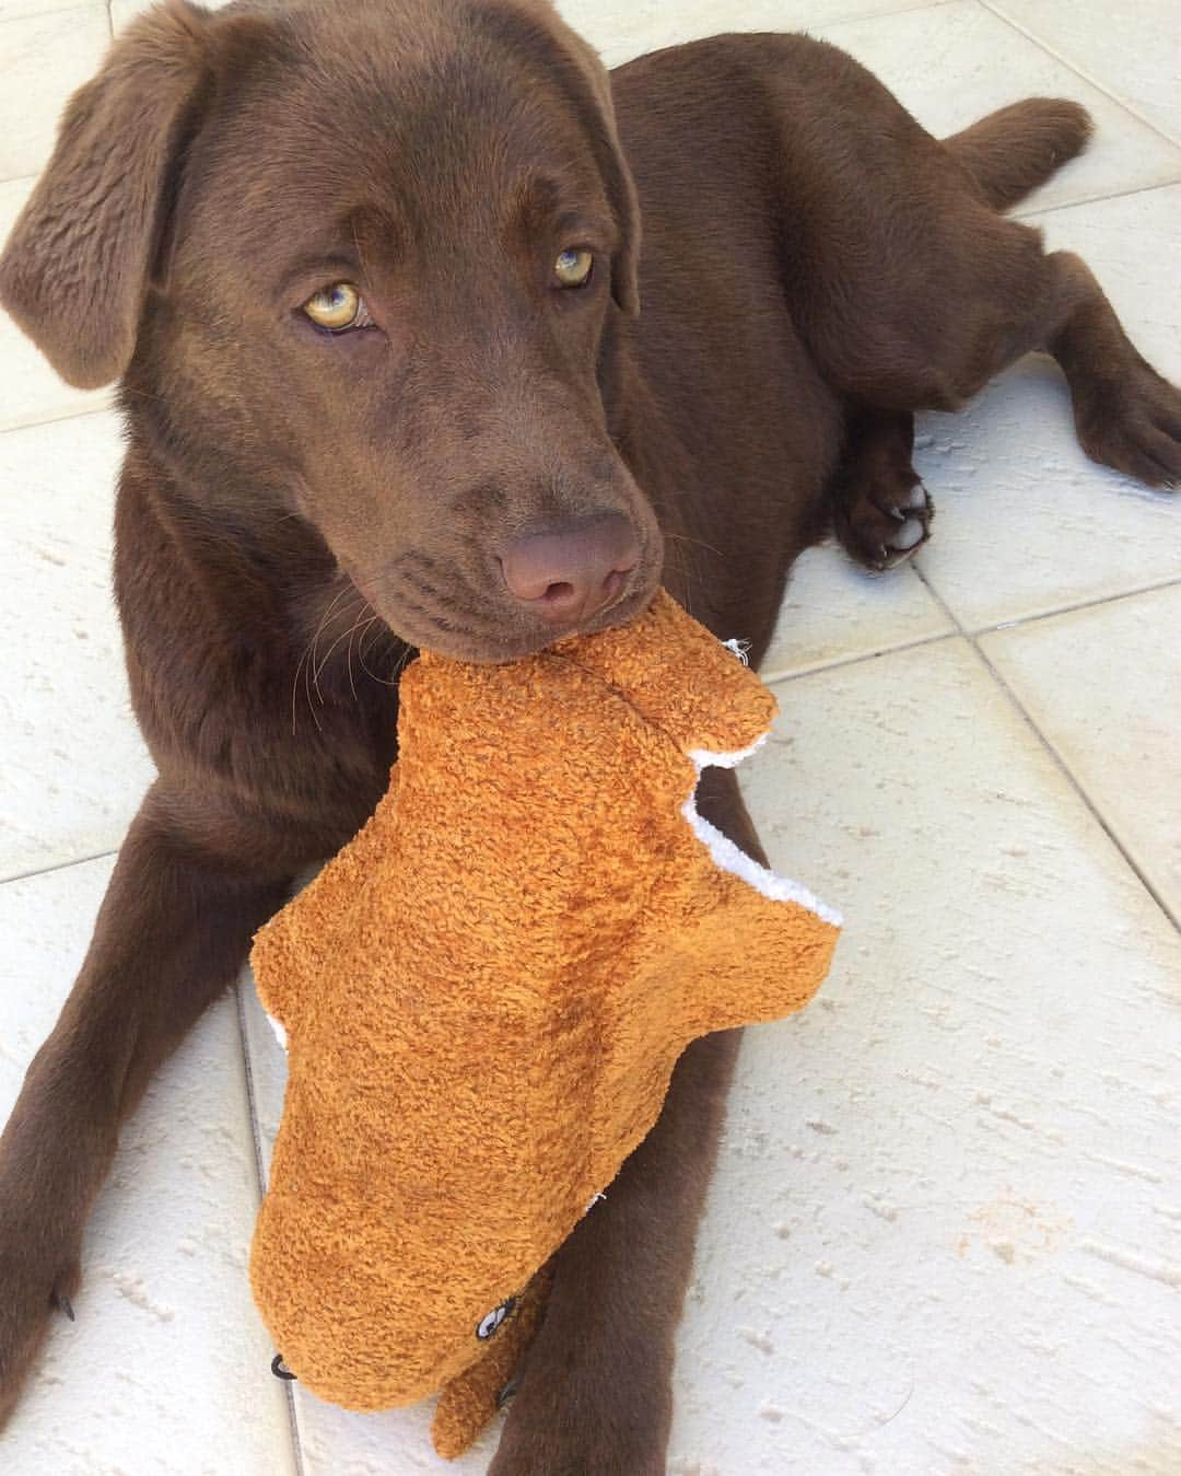
[(53, 1308), (72, 1317), (83, 1228), (119, 1122), (285, 899), (289, 872), (255, 865), (221, 863), (159, 784), (149, 790), (78, 982), (0, 1137), (0, 1426)]

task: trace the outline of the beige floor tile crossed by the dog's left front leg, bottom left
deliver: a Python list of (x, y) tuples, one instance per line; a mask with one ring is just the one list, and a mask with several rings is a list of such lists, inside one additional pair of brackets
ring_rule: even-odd
[[(111, 862), (0, 886), (0, 1122), (81, 964)], [(58, 1318), (0, 1438), (13, 1476), (295, 1472), (286, 1398), (251, 1306), (258, 1176), (231, 999), (127, 1125)]]

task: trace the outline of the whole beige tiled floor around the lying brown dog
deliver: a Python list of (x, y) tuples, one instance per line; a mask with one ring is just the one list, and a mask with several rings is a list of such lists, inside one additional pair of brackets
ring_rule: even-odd
[[(0, 0), (0, 229), (112, 18), (137, 9)], [(1098, 137), (1026, 214), (1088, 255), (1181, 378), (1174, 0), (566, 10), (610, 62), (725, 28), (821, 31), (936, 131), (1078, 97)], [(108, 590), (108, 404), (0, 322), (0, 1114), (150, 775)], [(1181, 505), (1085, 461), (1042, 360), (920, 430), (933, 543), (886, 579), (809, 554), (768, 663), (783, 716), (749, 797), (776, 865), (848, 927), (818, 1002), (746, 1039), (669, 1470), (1175, 1476)], [(66, 683), (83, 723), (60, 719)], [(0, 1469), (441, 1469), (425, 1411), (289, 1407), (267, 1371), (243, 1263), (280, 1103), (246, 980), (130, 1125), (78, 1321), (55, 1328)]]

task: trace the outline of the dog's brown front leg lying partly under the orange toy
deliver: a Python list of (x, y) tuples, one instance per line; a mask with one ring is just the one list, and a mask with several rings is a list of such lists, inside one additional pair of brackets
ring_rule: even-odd
[[(700, 812), (765, 862), (730, 770)], [(681, 1057), (659, 1122), (557, 1253), (490, 1476), (661, 1476), (674, 1340), (740, 1033)]]

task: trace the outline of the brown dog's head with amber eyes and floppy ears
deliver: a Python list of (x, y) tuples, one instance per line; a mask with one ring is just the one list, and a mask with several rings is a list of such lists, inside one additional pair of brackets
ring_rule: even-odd
[(305, 523), (389, 627), (473, 660), (635, 613), (653, 512), (603, 387), (635, 195), (546, 0), (134, 22), (71, 102), (0, 298), (227, 536)]

